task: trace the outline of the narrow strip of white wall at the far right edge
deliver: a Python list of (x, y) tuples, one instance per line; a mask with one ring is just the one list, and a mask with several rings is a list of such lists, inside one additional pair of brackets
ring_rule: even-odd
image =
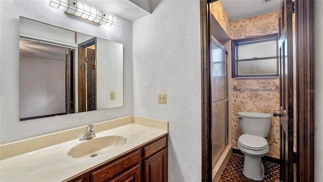
[(323, 179), (323, 1), (314, 3), (313, 41), (314, 41), (314, 180)]

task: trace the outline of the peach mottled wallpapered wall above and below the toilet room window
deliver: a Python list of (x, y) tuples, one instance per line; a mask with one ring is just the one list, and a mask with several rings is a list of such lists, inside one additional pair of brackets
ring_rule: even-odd
[[(232, 40), (258, 35), (278, 33), (278, 13), (271, 13), (246, 20), (231, 22), (220, 1), (211, 4), (210, 12)], [(230, 70), (229, 70), (230, 71)], [(230, 75), (230, 73), (229, 73)], [(239, 111), (273, 113), (279, 110), (279, 78), (230, 78), (232, 86), (232, 144), (238, 149), (237, 141), (242, 134), (238, 120)], [(267, 156), (279, 158), (279, 118), (273, 117), (271, 130), (266, 138), (270, 151)]]

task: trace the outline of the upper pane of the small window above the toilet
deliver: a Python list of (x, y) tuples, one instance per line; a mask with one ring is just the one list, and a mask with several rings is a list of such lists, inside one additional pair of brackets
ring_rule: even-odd
[(239, 45), (238, 59), (265, 58), (277, 56), (276, 41)]

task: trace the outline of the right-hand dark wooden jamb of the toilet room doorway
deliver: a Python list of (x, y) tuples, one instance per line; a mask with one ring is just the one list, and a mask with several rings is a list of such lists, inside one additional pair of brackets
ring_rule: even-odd
[[(297, 179), (314, 181), (314, 69), (312, 0), (295, 1), (296, 12), (296, 132)], [(295, 158), (295, 157), (294, 157)]]

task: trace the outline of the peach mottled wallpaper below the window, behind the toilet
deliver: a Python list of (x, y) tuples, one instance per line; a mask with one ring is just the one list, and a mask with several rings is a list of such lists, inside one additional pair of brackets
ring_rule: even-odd
[[(237, 142), (242, 131), (238, 120), (238, 112), (278, 112), (279, 79), (276, 77), (233, 79), (232, 88), (232, 144), (233, 148), (239, 149)], [(279, 158), (279, 131), (279, 117), (272, 117), (271, 129), (266, 138), (270, 147), (267, 156)]]

